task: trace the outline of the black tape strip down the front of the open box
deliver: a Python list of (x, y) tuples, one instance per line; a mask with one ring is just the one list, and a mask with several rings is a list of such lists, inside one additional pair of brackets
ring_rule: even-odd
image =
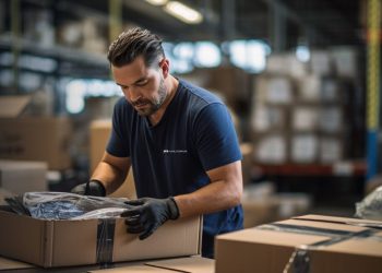
[(112, 262), (115, 229), (115, 218), (99, 219), (97, 227), (97, 263), (108, 264)]

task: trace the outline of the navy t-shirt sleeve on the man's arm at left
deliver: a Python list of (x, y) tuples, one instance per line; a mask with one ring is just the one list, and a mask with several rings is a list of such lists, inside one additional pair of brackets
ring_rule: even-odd
[(106, 146), (106, 151), (117, 157), (129, 157), (129, 135), (127, 133), (126, 122), (126, 109), (123, 108), (122, 102), (119, 100), (112, 112), (112, 128), (109, 138), (109, 142)]

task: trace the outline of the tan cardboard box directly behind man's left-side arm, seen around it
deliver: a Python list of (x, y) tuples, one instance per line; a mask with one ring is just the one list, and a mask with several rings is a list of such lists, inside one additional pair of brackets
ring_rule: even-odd
[[(111, 132), (111, 120), (94, 120), (91, 123), (91, 147), (89, 147), (89, 159), (91, 159), (91, 174), (97, 167), (98, 163), (103, 158), (106, 150), (107, 142)], [(133, 170), (130, 168), (129, 175), (124, 182), (110, 194), (110, 197), (123, 197), (129, 199), (136, 199), (135, 183), (133, 177)]]

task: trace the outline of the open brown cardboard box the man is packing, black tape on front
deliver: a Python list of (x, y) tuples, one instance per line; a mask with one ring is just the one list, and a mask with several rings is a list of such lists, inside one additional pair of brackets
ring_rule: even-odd
[(201, 217), (166, 222), (145, 240), (128, 234), (123, 218), (45, 221), (0, 211), (0, 254), (44, 268), (184, 257), (201, 251)]

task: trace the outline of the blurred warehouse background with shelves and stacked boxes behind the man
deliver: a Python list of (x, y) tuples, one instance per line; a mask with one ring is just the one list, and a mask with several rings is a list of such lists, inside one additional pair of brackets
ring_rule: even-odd
[(353, 216), (382, 169), (373, 2), (0, 0), (2, 194), (88, 179), (122, 95), (106, 51), (139, 25), (166, 40), (174, 74), (230, 107), (247, 226)]

